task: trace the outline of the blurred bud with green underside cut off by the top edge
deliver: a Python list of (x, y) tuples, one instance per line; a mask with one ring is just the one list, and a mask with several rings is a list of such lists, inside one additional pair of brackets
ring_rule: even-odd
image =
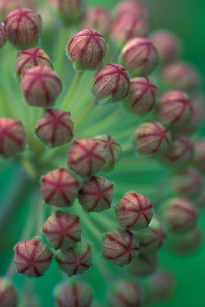
[(48, 0), (51, 8), (66, 23), (75, 23), (85, 7), (85, 0)]

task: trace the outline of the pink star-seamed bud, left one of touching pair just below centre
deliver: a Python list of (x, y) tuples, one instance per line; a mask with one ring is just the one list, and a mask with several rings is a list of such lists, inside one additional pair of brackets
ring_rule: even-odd
[(41, 179), (41, 189), (47, 205), (70, 207), (77, 198), (79, 182), (63, 167), (50, 171)]

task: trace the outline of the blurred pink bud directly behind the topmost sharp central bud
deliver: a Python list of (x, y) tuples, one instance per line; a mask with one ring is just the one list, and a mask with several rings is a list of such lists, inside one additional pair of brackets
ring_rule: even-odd
[(103, 7), (87, 9), (81, 23), (82, 29), (95, 29), (102, 35), (108, 35), (112, 26), (112, 16)]

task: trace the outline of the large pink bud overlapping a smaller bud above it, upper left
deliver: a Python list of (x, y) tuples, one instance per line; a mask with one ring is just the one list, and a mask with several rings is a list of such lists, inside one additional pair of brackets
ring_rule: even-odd
[(22, 91), (28, 104), (50, 107), (62, 91), (62, 82), (52, 69), (37, 66), (23, 75)]

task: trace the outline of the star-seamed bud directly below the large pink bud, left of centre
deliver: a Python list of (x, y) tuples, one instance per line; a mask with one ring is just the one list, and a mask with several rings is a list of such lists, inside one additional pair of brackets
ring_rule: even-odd
[(48, 109), (38, 119), (35, 133), (44, 144), (57, 147), (72, 140), (73, 126), (70, 112)]

